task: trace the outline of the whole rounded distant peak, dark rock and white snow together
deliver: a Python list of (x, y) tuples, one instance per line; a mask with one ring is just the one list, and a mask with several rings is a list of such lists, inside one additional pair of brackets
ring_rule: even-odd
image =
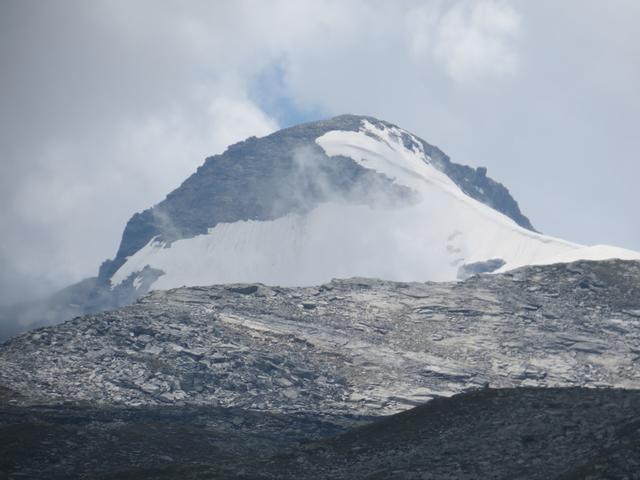
[(102, 275), (112, 289), (141, 294), (353, 276), (453, 280), (528, 264), (640, 259), (535, 232), (485, 174), (371, 117), (304, 124), (207, 159), (132, 218)]

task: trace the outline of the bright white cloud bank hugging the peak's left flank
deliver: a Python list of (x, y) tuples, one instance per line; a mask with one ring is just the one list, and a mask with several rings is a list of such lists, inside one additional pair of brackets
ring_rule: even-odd
[(196, 112), (161, 111), (104, 138), (50, 142), (36, 153), (13, 192), (13, 229), (1, 246), (5, 257), (29, 252), (15, 258), (14, 270), (38, 272), (31, 293), (95, 274), (135, 211), (162, 200), (206, 156), (277, 129), (247, 98), (198, 98), (203, 108)]

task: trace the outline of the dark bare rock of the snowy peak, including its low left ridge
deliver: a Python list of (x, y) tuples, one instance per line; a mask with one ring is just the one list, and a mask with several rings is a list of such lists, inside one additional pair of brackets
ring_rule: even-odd
[[(131, 217), (116, 256), (101, 265), (96, 277), (71, 285), (47, 300), (0, 311), (0, 317), (41, 326), (132, 303), (150, 289), (162, 272), (145, 268), (116, 286), (111, 284), (111, 277), (127, 257), (154, 237), (170, 243), (205, 234), (221, 222), (272, 220), (307, 212), (335, 198), (364, 204), (374, 201), (374, 197), (376, 201), (385, 196), (388, 201), (410, 197), (406, 188), (367, 171), (350, 158), (329, 159), (315, 143), (316, 138), (331, 130), (357, 131), (363, 119), (392, 126), (372, 117), (341, 115), (296, 125), (260, 139), (252, 137), (208, 157), (163, 201)], [(510, 216), (524, 228), (533, 229), (509, 191), (488, 177), (486, 169), (456, 164), (440, 149), (417, 137), (407, 136), (404, 141), (420, 142), (434, 164), (468, 195)]]

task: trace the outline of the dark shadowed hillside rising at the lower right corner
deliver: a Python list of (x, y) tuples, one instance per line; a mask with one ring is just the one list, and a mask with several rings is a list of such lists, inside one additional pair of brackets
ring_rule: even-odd
[(251, 476), (635, 479), (640, 392), (487, 389), (438, 399), (279, 455)]

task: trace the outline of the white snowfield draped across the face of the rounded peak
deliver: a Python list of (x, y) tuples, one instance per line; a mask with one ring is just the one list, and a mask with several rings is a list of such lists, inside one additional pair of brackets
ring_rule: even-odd
[[(522, 228), (465, 194), (434, 165), (419, 139), (397, 127), (363, 119), (359, 131), (329, 131), (316, 144), (330, 157), (350, 158), (413, 195), (398, 204), (377, 202), (375, 191), (367, 192), (366, 203), (329, 194), (307, 212), (219, 223), (206, 234), (173, 242), (156, 237), (127, 257), (111, 284), (127, 279), (134, 287), (148, 284), (139, 274), (146, 267), (161, 272), (152, 288), (165, 289), (247, 281), (312, 285), (352, 276), (452, 280), (499, 267), (640, 258)], [(477, 269), (461, 269), (469, 265)]]

